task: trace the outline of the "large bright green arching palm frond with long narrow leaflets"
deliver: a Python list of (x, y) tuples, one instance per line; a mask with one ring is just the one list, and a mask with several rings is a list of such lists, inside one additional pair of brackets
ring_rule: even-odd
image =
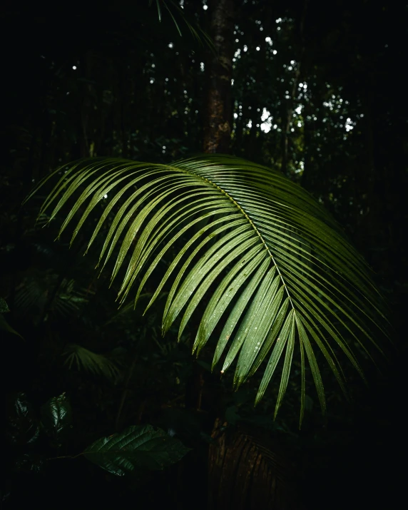
[(104, 236), (99, 263), (105, 267), (115, 257), (112, 280), (123, 270), (121, 303), (136, 281), (137, 300), (160, 260), (183, 241), (148, 307), (168, 283), (163, 332), (183, 312), (181, 335), (204, 303), (193, 350), (198, 354), (223, 326), (213, 367), (223, 358), (225, 371), (238, 357), (235, 387), (270, 356), (256, 402), (280, 367), (275, 414), (297, 346), (301, 419), (307, 366), (325, 411), (317, 350), (344, 392), (339, 353), (363, 377), (361, 356), (382, 352), (376, 339), (378, 333), (387, 335), (386, 309), (369, 268), (325, 209), (280, 173), (230, 156), (205, 155), (173, 165), (94, 159), (56, 174), (60, 179), (40, 215), (53, 220), (76, 196), (61, 226), (62, 233), (81, 211), (72, 242), (105, 200), (88, 248)]

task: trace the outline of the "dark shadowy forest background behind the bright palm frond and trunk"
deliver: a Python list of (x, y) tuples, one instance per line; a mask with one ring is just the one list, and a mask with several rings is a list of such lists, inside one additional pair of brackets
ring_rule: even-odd
[[(327, 422), (310, 392), (297, 429), (297, 379), (275, 422), (273, 389), (254, 409), (256, 377), (233, 393), (228, 374), (210, 373), (210, 353), (190, 355), (191, 330), (180, 344), (173, 329), (162, 339), (160, 300), (144, 317), (133, 303), (118, 311), (115, 285), (98, 278), (92, 253), (83, 257), (86, 232), (68, 250), (66, 240), (53, 242), (53, 224), (35, 224), (44, 196), (21, 207), (44, 175), (77, 158), (170, 163), (203, 151), (214, 55), (200, 30), (210, 33), (216, 3), (167, 2), (169, 11), (158, 2), (161, 21), (148, 0), (1, 10), (4, 508), (244, 509), (255, 491), (258, 504), (265, 497), (276, 509), (404, 501), (406, 3), (233, 1), (230, 153), (282, 170), (323, 203), (391, 310), (398, 352), (382, 374), (372, 369), (368, 389), (350, 375), (351, 403), (327, 371)], [(63, 393), (72, 422), (56, 441), (37, 424), (41, 407)], [(131, 424), (160, 427), (191, 451), (132, 479), (83, 458), (49, 460)], [(221, 480), (211, 452), (223, 441), (230, 471)], [(245, 445), (266, 459), (275, 506), (237, 468), (253, 461)]]

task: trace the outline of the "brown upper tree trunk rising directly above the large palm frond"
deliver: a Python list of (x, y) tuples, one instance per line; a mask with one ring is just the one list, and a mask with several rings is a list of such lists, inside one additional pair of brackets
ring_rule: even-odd
[(210, 34), (215, 54), (208, 69), (208, 96), (204, 118), (205, 153), (228, 153), (232, 119), (231, 78), (233, 73), (233, 0), (215, 0), (212, 11)]

